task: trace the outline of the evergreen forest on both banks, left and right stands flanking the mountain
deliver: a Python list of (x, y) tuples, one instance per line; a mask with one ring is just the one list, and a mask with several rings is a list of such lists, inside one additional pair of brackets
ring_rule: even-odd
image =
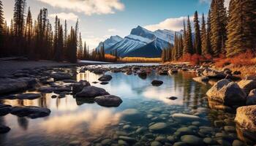
[[(187, 23), (184, 20), (184, 34), (176, 34), (174, 45), (163, 48), (162, 61), (231, 58), (241, 53), (255, 57), (256, 1), (231, 0), (228, 9), (224, 2), (225, 0), (211, 1), (207, 20), (204, 14), (200, 18), (196, 11), (193, 33), (188, 16)], [(63, 25), (56, 16), (52, 25), (46, 8), (39, 10), (37, 20), (32, 20), (30, 8), (26, 9), (26, 0), (15, 0), (10, 26), (4, 20), (3, 4), (0, 0), (0, 57), (7, 56), (74, 63), (78, 58), (97, 61), (122, 59), (118, 58), (117, 50), (110, 55), (105, 54), (104, 45), (89, 53), (89, 47), (86, 42), (83, 44), (79, 33), (78, 21), (68, 32), (67, 20)], [(136, 58), (126, 60), (132, 61)]]

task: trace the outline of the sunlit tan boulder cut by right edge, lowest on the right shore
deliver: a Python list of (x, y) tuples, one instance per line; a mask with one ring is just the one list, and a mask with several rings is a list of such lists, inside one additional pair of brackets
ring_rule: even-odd
[(241, 128), (256, 131), (256, 105), (238, 107), (235, 120)]

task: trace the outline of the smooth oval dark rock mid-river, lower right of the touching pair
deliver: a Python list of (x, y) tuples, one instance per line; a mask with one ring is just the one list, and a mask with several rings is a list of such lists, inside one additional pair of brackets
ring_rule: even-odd
[(94, 101), (103, 107), (118, 107), (123, 102), (120, 97), (113, 95), (97, 96)]

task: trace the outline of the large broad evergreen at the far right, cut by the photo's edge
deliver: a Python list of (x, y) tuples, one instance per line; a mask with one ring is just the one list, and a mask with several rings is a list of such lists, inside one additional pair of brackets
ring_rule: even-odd
[(227, 56), (256, 49), (256, 1), (231, 0), (227, 25)]

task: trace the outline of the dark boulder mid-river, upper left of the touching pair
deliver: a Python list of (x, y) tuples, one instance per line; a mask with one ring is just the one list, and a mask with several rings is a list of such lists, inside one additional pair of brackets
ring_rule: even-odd
[(97, 88), (95, 86), (87, 86), (83, 88), (83, 90), (77, 93), (75, 96), (84, 97), (84, 98), (94, 98), (97, 96), (105, 96), (105, 95), (109, 95), (109, 93), (105, 91), (105, 89)]

